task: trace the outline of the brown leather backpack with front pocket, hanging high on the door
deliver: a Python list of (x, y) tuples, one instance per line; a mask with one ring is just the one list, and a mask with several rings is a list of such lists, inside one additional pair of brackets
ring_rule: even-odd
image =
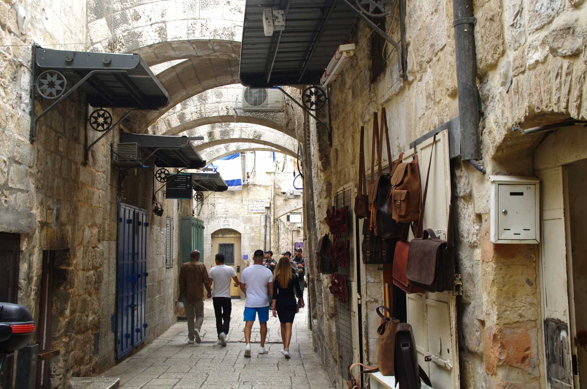
[(411, 223), (420, 216), (420, 169), (418, 157), (413, 161), (403, 162), (393, 173), (392, 189), (387, 192), (387, 211), (393, 219), (403, 223)]

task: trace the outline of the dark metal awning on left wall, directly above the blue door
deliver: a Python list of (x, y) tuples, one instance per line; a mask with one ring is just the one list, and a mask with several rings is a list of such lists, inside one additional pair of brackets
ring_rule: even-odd
[(190, 139), (195, 140), (175, 135), (120, 133), (121, 143), (136, 143), (139, 146), (143, 163), (153, 156), (159, 168), (203, 168), (206, 161), (195, 151)]

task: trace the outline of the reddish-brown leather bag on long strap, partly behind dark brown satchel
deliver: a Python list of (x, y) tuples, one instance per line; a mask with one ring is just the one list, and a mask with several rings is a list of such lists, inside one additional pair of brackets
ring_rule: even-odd
[[(424, 185), (424, 196), (422, 200), (422, 206), (420, 216), (418, 217), (418, 224), (414, 236), (420, 238), (423, 236), (422, 223), (424, 219), (424, 207), (426, 206), (426, 195), (428, 192), (428, 179), (430, 177), (430, 166), (432, 165), (432, 155), (434, 152), (434, 144), (436, 143), (436, 135), (432, 139), (432, 149), (430, 150), (430, 161), (428, 163), (428, 172), (426, 173), (426, 185)], [(402, 240), (397, 242), (396, 250), (393, 253), (393, 284), (401, 288), (407, 294), (413, 293), (424, 293), (423, 289), (417, 288), (416, 285), (411, 284), (409, 278), (407, 278), (407, 267), (411, 252), (411, 242), (407, 241), (409, 230), (404, 228), (402, 233)], [(413, 241), (413, 240), (412, 240)]]

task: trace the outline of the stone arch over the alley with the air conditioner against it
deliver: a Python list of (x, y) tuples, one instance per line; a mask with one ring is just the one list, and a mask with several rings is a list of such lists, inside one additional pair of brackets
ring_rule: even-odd
[[(232, 84), (204, 91), (170, 108), (166, 114), (151, 126), (149, 132), (158, 135), (176, 135), (205, 124), (238, 122), (271, 127), (295, 137), (296, 120), (294, 115), (299, 112), (287, 106), (284, 106), (284, 110), (276, 112), (235, 111), (235, 103), (238, 101), (239, 107), (241, 105), (241, 95), (241, 84)], [(303, 117), (299, 115), (297, 120), (299, 127), (301, 127), (302, 121)]]

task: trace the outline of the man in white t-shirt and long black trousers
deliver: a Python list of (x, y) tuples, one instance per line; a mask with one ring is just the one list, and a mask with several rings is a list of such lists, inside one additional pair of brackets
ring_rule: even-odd
[(216, 330), (218, 332), (218, 344), (226, 347), (226, 336), (230, 328), (230, 314), (232, 312), (232, 300), (230, 298), (230, 279), (234, 279), (234, 286), (239, 286), (237, 273), (233, 268), (224, 264), (224, 254), (216, 254), (216, 266), (208, 273), (207, 286), (210, 288), (214, 283), (212, 291), (212, 303), (214, 303), (214, 314), (216, 315)]

